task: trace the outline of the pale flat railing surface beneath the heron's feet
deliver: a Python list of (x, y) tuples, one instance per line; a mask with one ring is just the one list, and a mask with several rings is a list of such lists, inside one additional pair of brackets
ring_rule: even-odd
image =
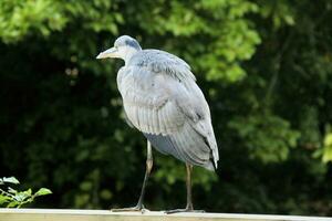
[(146, 211), (111, 212), (107, 210), (0, 209), (0, 221), (332, 221), (332, 218), (232, 214), (175, 213)]

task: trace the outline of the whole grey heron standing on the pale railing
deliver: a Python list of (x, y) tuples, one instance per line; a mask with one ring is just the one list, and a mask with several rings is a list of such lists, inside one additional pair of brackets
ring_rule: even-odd
[(122, 59), (117, 87), (126, 117), (147, 138), (146, 171), (138, 203), (113, 211), (142, 211), (145, 187), (153, 167), (152, 146), (186, 164), (187, 206), (172, 212), (195, 211), (191, 201), (193, 166), (216, 170), (218, 146), (209, 106), (190, 66), (160, 50), (142, 50), (138, 42), (122, 35), (96, 59)]

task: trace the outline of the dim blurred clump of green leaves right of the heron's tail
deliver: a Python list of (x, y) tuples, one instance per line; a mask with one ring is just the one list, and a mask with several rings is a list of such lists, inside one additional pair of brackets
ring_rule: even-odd
[(250, 156), (263, 162), (286, 160), (300, 136), (299, 131), (290, 128), (287, 120), (270, 114), (239, 117), (230, 122), (229, 126), (243, 139)]

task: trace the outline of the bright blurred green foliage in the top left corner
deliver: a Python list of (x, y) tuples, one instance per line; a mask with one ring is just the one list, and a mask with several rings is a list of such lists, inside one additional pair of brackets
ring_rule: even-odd
[(29, 34), (49, 36), (62, 31), (75, 19), (84, 21), (84, 28), (94, 32), (117, 33), (114, 22), (123, 22), (121, 13), (106, 15), (110, 1), (52, 1), (4, 0), (0, 2), (0, 36), (14, 43)]

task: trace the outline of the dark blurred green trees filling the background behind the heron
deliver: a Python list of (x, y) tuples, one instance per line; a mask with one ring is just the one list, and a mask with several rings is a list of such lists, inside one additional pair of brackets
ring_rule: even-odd
[[(210, 104), (220, 168), (195, 169), (197, 208), (331, 215), (331, 21), (330, 0), (1, 0), (1, 177), (54, 192), (33, 207), (136, 203), (146, 143), (123, 63), (95, 60), (129, 34), (185, 59)], [(184, 165), (155, 156), (146, 207), (184, 207)]]

